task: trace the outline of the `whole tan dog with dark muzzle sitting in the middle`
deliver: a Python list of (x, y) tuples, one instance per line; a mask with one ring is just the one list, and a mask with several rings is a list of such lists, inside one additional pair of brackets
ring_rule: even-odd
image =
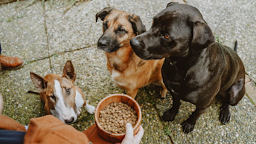
[(154, 83), (163, 88), (161, 96), (165, 97), (167, 89), (161, 77), (164, 59), (141, 59), (129, 44), (130, 39), (146, 31), (139, 16), (106, 7), (96, 14), (96, 22), (98, 18), (103, 21), (103, 35), (97, 48), (106, 51), (107, 68), (115, 84), (135, 98), (139, 88)]

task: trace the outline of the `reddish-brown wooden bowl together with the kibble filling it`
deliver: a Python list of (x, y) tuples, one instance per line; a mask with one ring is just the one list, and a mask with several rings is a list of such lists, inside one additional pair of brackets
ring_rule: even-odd
[(97, 133), (112, 143), (121, 143), (125, 125), (131, 123), (134, 135), (141, 125), (141, 108), (126, 94), (112, 94), (103, 98), (95, 110)]

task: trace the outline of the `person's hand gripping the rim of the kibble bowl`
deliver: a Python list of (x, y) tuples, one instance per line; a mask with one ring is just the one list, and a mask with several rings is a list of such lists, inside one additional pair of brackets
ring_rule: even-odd
[(144, 129), (140, 125), (140, 129), (138, 133), (133, 136), (133, 128), (132, 125), (127, 122), (126, 128), (125, 128), (125, 136), (124, 140), (121, 142), (121, 144), (139, 144), (141, 142), (141, 138), (144, 134)]

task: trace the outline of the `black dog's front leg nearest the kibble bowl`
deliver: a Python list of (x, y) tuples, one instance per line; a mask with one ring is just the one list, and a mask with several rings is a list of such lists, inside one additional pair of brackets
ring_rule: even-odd
[(181, 104), (179, 96), (173, 96), (173, 107), (164, 112), (162, 119), (164, 121), (173, 121), (176, 114), (179, 112), (179, 105)]

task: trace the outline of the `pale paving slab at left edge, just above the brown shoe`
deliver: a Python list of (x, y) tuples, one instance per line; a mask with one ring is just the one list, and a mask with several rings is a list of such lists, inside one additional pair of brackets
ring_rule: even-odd
[(48, 46), (42, 15), (1, 22), (1, 54), (19, 56), (25, 61), (48, 57)]

